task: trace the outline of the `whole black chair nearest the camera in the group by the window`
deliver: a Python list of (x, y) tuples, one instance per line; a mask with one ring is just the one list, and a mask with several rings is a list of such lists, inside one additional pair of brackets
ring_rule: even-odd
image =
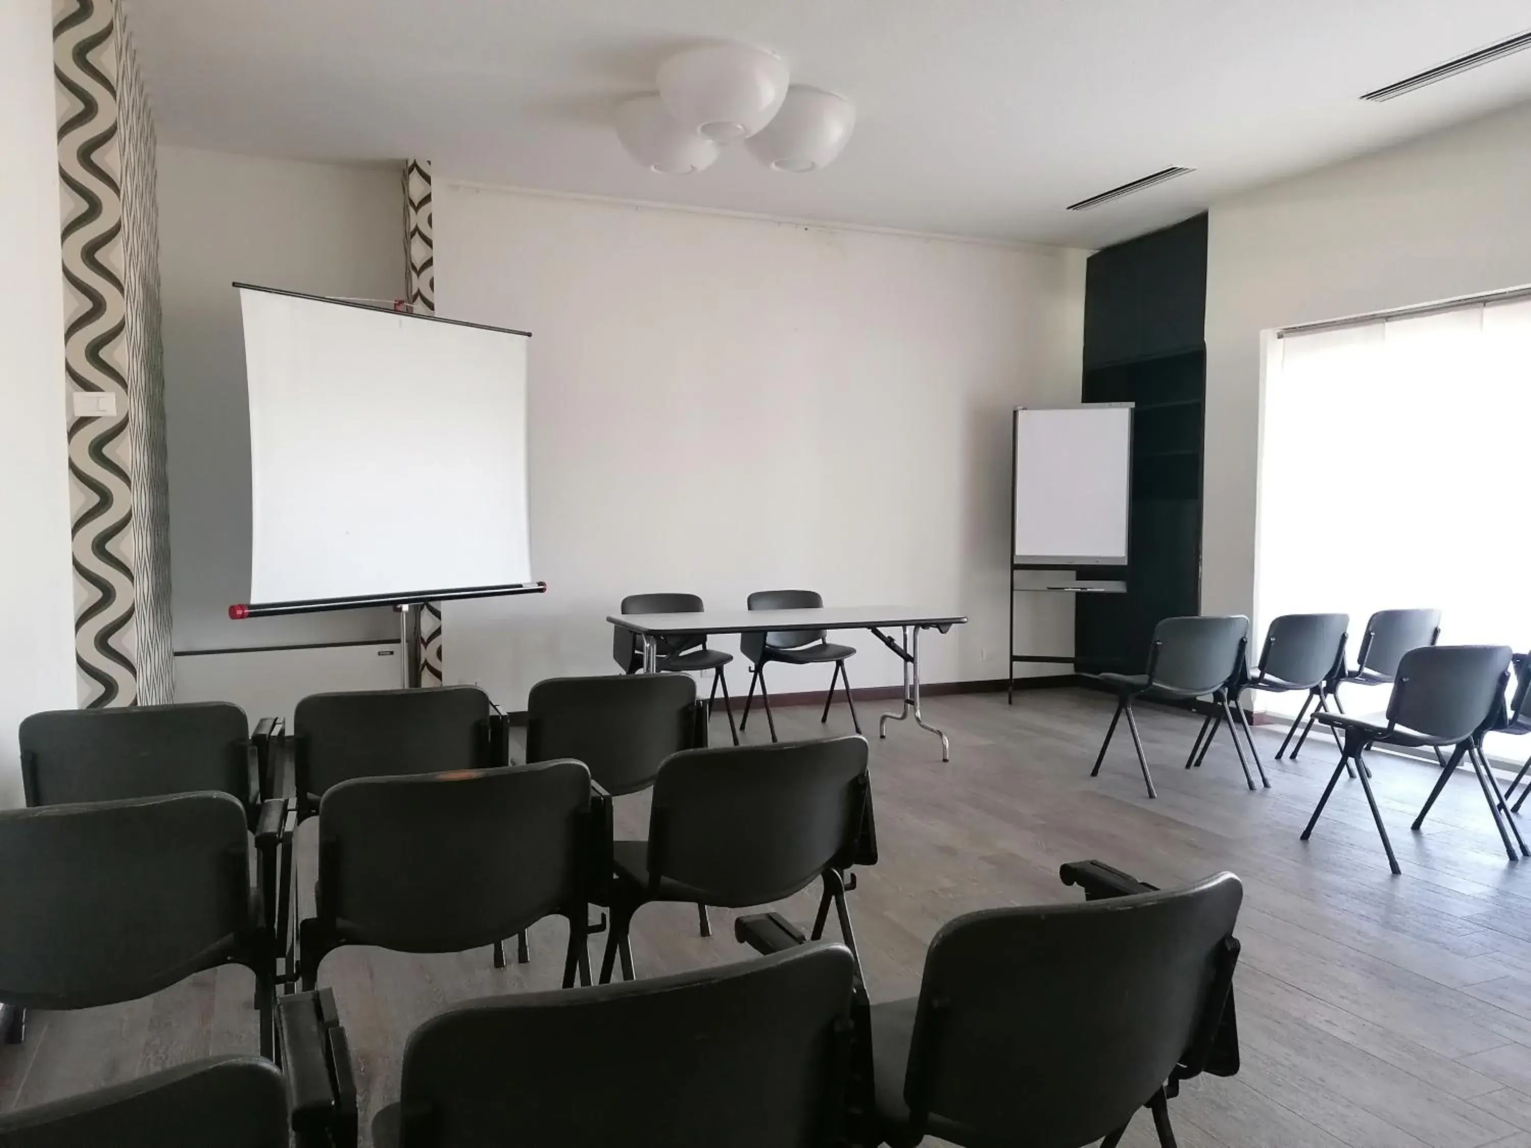
[[(1493, 719), (1494, 706), (1503, 698), (1505, 684), (1510, 673), (1508, 646), (1421, 646), (1412, 649), (1398, 660), (1395, 670), (1393, 695), (1387, 701), (1387, 715), (1378, 718), (1358, 718), (1344, 713), (1320, 713), (1318, 721), (1332, 726), (1344, 735), (1344, 745), (1340, 753), (1340, 764), (1335, 765), (1324, 794), (1314, 807), (1314, 816), (1307, 819), (1301, 840), (1307, 840), (1318, 823), (1329, 794), (1334, 793), (1335, 782), (1349, 762), (1355, 762), (1356, 775), (1361, 778), (1361, 788), (1366, 790), (1366, 802), (1372, 807), (1372, 820), (1376, 822), (1376, 833), (1382, 839), (1387, 851), (1387, 863), (1393, 872), (1402, 872), (1398, 857), (1393, 856), (1393, 843), (1387, 837), (1387, 827), (1382, 825), (1382, 814), (1376, 808), (1376, 797), (1372, 794), (1370, 771), (1361, 755), (1372, 745), (1402, 745), (1410, 748), (1430, 747), (1439, 755), (1441, 747), (1454, 745), (1456, 752), (1450, 762), (1442, 764), (1442, 773), (1435, 793), (1419, 811), (1415, 828), (1424, 822), (1425, 813), (1436, 796), (1445, 787), (1447, 779), (1456, 764), (1465, 755), (1477, 775), (1477, 782), (1488, 802), (1488, 811), (1494, 817), (1494, 827), (1505, 843), (1510, 859), (1516, 859), (1516, 850), (1510, 843), (1510, 833), (1503, 822), (1510, 822), (1516, 840), (1520, 830), (1514, 820), (1505, 814), (1499, 819), (1500, 808), (1505, 807), (1503, 794), (1493, 771), (1487, 768), (1487, 761), (1479, 761), (1477, 739)], [(1525, 842), (1520, 842), (1525, 853)]]

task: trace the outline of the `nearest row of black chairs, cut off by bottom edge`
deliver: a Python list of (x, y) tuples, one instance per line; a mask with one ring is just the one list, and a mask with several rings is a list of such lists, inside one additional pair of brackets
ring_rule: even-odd
[[(1147, 1108), (1173, 1148), (1179, 1085), (1239, 1070), (1242, 886), (1156, 891), (1098, 862), (1061, 876), (1089, 900), (948, 923), (902, 1001), (871, 1004), (845, 946), (766, 914), (736, 921), (756, 960), (449, 1009), (409, 1038), (372, 1143), (1115, 1148)], [(300, 1148), (355, 1145), (329, 990), (285, 998), (282, 1032), (285, 1088), (265, 1061), (205, 1061), (0, 1117), (0, 1140), (277, 1148), (291, 1127)]]

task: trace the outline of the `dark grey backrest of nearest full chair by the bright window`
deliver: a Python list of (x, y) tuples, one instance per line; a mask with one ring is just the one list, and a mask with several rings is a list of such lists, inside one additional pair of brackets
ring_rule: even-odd
[(1398, 663), (1387, 719), (1439, 739), (1471, 736), (1496, 712), (1505, 693), (1508, 646), (1419, 646)]

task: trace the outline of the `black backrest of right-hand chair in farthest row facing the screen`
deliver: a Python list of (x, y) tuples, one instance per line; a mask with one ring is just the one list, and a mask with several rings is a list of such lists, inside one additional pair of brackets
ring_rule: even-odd
[(669, 755), (706, 744), (684, 673), (548, 678), (527, 696), (527, 761), (582, 761), (612, 796), (646, 790)]

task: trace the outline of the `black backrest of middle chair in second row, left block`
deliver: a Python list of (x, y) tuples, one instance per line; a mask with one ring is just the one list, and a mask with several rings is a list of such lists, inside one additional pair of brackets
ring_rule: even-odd
[(589, 808), (577, 761), (344, 781), (318, 807), (318, 915), (352, 943), (459, 952), (583, 912)]

